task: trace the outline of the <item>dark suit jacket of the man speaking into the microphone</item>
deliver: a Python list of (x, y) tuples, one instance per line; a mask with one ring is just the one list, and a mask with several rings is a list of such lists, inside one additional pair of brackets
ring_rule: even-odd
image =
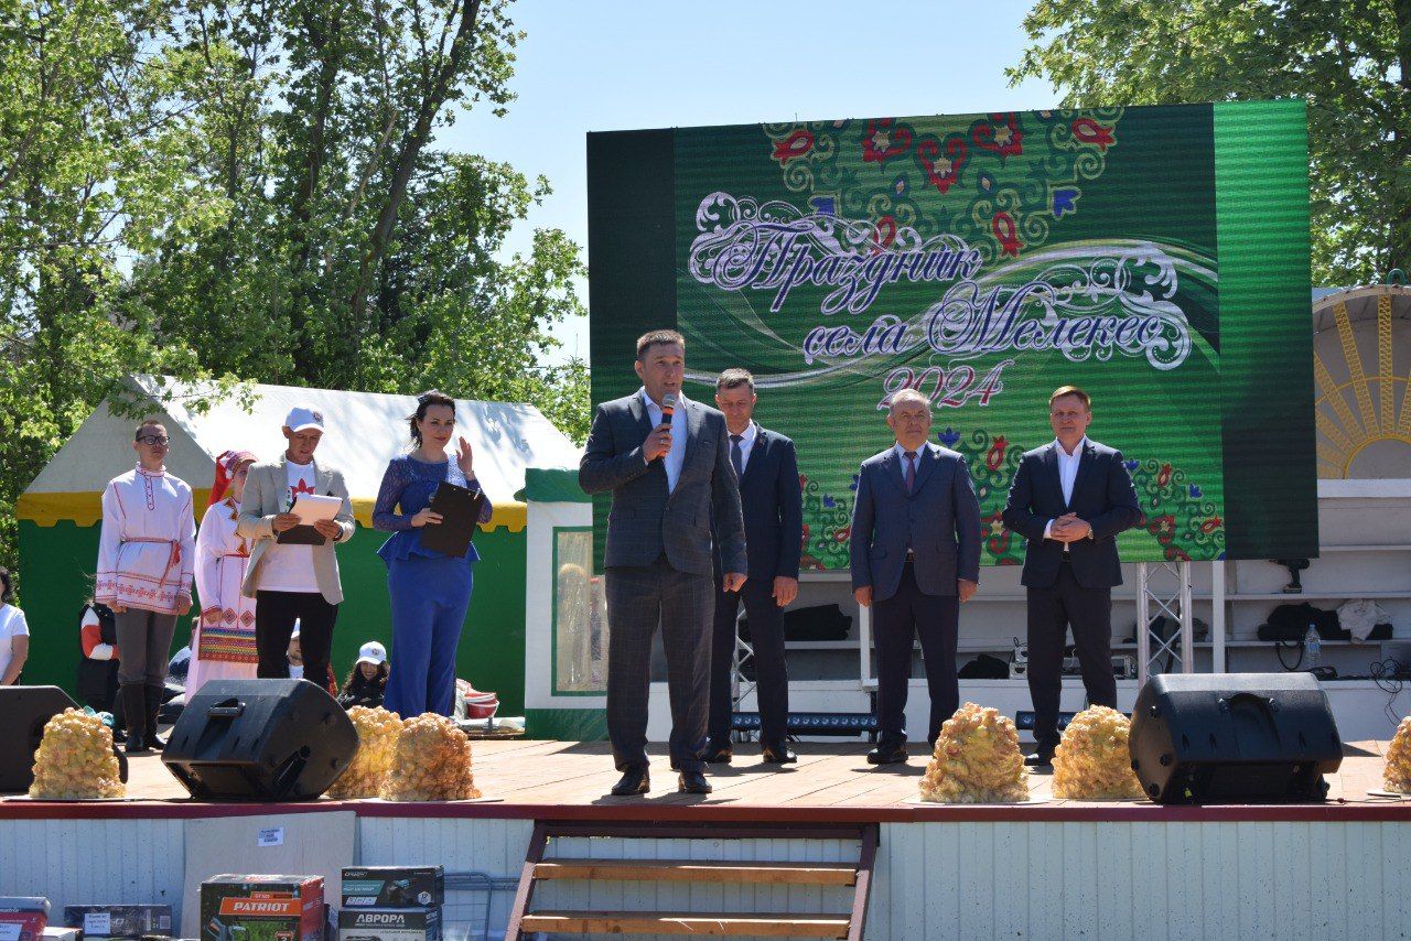
[(666, 490), (666, 466), (642, 456), (652, 430), (642, 396), (634, 392), (598, 406), (579, 463), (587, 494), (612, 491), (604, 566), (650, 566), (665, 552), (679, 571), (711, 574), (713, 538), (728, 571), (745, 571), (745, 523), (739, 485), (729, 463), (725, 416), (686, 399), (686, 459), (676, 490)]

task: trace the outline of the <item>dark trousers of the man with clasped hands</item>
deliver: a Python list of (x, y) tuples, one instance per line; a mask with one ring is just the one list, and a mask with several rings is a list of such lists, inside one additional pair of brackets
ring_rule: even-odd
[(1068, 628), (1092, 705), (1118, 707), (1112, 676), (1112, 588), (1084, 588), (1062, 563), (1047, 588), (1029, 588), (1029, 696), (1034, 701), (1034, 739), (1041, 751), (1058, 745), (1058, 697)]

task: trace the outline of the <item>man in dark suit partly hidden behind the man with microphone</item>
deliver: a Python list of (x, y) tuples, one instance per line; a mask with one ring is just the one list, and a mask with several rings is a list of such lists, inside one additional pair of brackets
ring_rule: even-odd
[[(755, 420), (755, 377), (725, 370), (715, 380), (715, 406), (725, 413), (729, 461), (739, 478), (745, 512), (746, 581), (738, 591), (715, 595), (715, 636), (710, 673), (710, 746), (707, 762), (731, 759), (731, 663), (735, 653), (735, 615), (741, 601), (749, 617), (755, 648), (755, 696), (759, 700), (759, 745), (765, 762), (799, 760), (789, 751), (789, 672), (785, 669), (783, 609), (799, 594), (799, 554), (803, 546), (803, 490), (793, 442)], [(715, 571), (721, 573), (720, 552)]]

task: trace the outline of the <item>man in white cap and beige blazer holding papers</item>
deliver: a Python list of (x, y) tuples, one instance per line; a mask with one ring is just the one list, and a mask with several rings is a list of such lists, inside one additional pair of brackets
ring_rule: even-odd
[[(323, 439), (323, 413), (308, 405), (289, 409), (288, 442), (279, 460), (255, 464), (246, 478), (237, 532), (253, 540), (241, 591), (255, 600), (257, 676), (286, 679), (286, 650), (295, 621), (306, 677), (329, 676), (333, 622), (343, 602), (334, 543), (353, 536), (353, 504), (343, 474), (313, 460)], [(301, 494), (343, 501), (334, 519), (299, 526), (289, 512)]]

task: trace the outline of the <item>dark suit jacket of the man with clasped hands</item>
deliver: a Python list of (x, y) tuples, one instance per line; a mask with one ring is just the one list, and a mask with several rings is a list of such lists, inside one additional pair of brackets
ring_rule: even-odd
[(1118, 533), (1141, 521), (1132, 474), (1122, 463), (1122, 451), (1088, 440), (1078, 460), (1072, 482), (1072, 501), (1062, 499), (1058, 478), (1058, 443), (1026, 451), (1009, 487), (1005, 525), (1029, 540), (1024, 573), (1020, 581), (1047, 588), (1058, 578), (1062, 543), (1044, 539), (1044, 526), (1064, 514), (1078, 514), (1092, 525), (1092, 539), (1070, 543), (1072, 574), (1084, 588), (1110, 588), (1122, 584), (1118, 559)]

